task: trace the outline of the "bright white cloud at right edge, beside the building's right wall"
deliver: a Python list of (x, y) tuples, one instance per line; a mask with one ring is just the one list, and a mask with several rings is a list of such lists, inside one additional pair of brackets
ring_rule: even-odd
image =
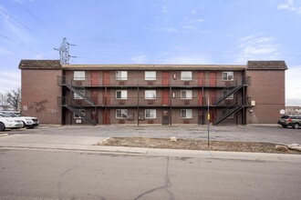
[(285, 104), (301, 106), (301, 65), (288, 67), (285, 71)]

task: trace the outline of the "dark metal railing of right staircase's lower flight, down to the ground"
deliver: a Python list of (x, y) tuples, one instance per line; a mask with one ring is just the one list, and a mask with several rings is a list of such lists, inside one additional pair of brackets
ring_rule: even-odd
[(230, 115), (234, 115), (245, 106), (251, 105), (250, 102), (251, 102), (250, 97), (247, 96), (237, 99), (237, 101), (235, 101), (234, 104), (228, 105), (217, 115), (214, 125), (220, 124), (221, 122), (223, 122), (223, 120), (228, 118)]

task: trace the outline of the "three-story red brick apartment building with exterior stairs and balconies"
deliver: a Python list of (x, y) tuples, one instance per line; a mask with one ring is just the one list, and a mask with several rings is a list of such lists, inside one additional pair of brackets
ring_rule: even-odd
[(284, 61), (61, 65), (21, 60), (22, 112), (42, 124), (263, 124), (285, 108)]

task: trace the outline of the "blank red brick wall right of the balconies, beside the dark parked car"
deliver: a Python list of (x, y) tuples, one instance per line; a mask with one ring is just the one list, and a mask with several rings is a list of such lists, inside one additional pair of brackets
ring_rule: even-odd
[(247, 124), (275, 124), (285, 109), (285, 70), (247, 70), (247, 88), (255, 105), (247, 109)]

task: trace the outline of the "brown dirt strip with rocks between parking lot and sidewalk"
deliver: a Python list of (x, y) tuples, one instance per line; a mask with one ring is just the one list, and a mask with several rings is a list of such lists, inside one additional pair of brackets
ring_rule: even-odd
[(291, 150), (279, 151), (275, 149), (276, 144), (272, 143), (252, 143), (252, 142), (226, 142), (177, 139), (146, 138), (146, 137), (111, 137), (99, 143), (99, 145), (130, 146), (144, 148), (167, 148), (167, 149), (187, 149), (203, 151), (231, 151), (231, 152), (258, 152), (258, 153), (277, 153), (277, 154), (301, 154), (301, 152)]

